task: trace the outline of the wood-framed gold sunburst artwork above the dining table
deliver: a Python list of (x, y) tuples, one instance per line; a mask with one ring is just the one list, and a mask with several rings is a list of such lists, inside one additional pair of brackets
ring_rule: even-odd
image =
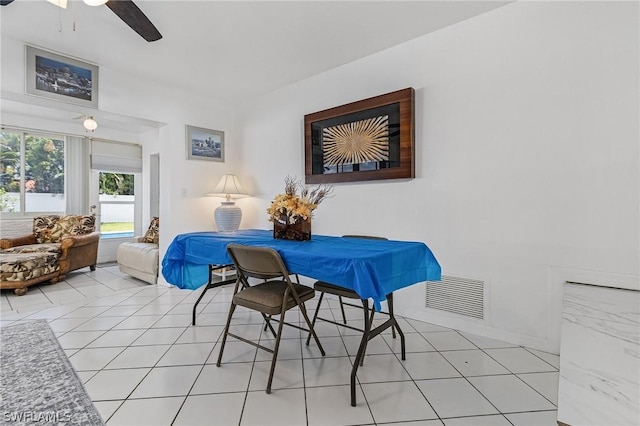
[(413, 88), (304, 116), (306, 183), (415, 177)]

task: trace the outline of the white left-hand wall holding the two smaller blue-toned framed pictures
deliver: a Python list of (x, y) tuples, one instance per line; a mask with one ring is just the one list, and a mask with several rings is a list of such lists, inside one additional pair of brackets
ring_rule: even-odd
[[(61, 35), (64, 37), (64, 35)], [(18, 97), (24, 91), (24, 43), (10, 36), (2, 39), (2, 91), (3, 95)], [(55, 45), (47, 45), (57, 50)], [(73, 51), (65, 51), (70, 56)], [(92, 58), (87, 58), (91, 60)], [(122, 58), (138, 61), (139, 58)], [(149, 156), (160, 154), (160, 250), (161, 257), (172, 239), (180, 233), (213, 230), (213, 210), (219, 199), (206, 197), (225, 173), (239, 169), (236, 115), (227, 107), (199, 93), (185, 93), (173, 87), (125, 75), (100, 64), (100, 113), (117, 113), (131, 117), (143, 125), (141, 130), (123, 131), (99, 127), (92, 135), (96, 138), (142, 144), (143, 154), (143, 214), (142, 231), (150, 221), (149, 211)], [(145, 63), (140, 61), (140, 75)], [(17, 94), (17, 95), (16, 95)], [(40, 111), (40, 109), (38, 109)], [(166, 123), (150, 128), (147, 121)], [(44, 119), (38, 114), (2, 114), (2, 124), (29, 129), (42, 129), (74, 134), (82, 131), (77, 121)], [(194, 125), (225, 132), (226, 158), (224, 163), (186, 160), (185, 125)], [(117, 127), (117, 126), (116, 126)], [(129, 126), (132, 127), (132, 126)], [(163, 282), (162, 277), (160, 282)]]

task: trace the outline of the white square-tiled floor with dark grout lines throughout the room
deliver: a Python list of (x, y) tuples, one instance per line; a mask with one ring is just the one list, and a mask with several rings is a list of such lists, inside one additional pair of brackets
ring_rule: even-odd
[[(390, 333), (372, 340), (357, 407), (349, 375), (359, 336), (328, 323), (316, 326), (325, 357), (285, 328), (267, 395), (270, 354), (230, 339), (215, 366), (231, 290), (209, 290), (192, 326), (201, 290), (147, 285), (105, 265), (22, 297), (3, 291), (0, 325), (47, 319), (108, 425), (556, 424), (557, 355), (404, 318), (406, 361)], [(339, 315), (336, 302), (325, 315)], [(347, 315), (358, 321), (361, 311)], [(239, 310), (232, 327), (269, 344), (261, 322)]]

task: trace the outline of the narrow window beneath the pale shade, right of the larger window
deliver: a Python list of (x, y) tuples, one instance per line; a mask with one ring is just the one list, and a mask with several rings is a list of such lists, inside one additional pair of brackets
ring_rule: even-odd
[(100, 172), (100, 235), (132, 237), (135, 223), (135, 175)]

